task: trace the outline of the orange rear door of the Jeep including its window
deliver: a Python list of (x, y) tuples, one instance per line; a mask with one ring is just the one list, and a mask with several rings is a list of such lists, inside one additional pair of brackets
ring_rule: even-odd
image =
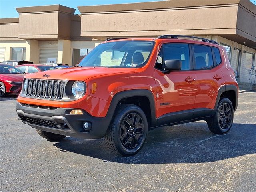
[(220, 70), (222, 61), (219, 48), (194, 44), (193, 53), (194, 70), (196, 72), (194, 108), (213, 109), (218, 95), (218, 88), (224, 84), (224, 77)]

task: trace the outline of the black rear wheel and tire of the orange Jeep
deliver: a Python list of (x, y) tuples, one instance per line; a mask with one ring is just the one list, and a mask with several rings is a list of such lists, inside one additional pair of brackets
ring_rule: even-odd
[(228, 98), (222, 98), (215, 115), (207, 121), (208, 128), (215, 134), (226, 134), (232, 127), (234, 108)]

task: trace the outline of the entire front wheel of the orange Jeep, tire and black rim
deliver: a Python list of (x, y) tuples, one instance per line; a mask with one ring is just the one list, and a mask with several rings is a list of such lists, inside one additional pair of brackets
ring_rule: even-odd
[(136, 105), (117, 107), (105, 138), (110, 150), (120, 156), (138, 153), (146, 140), (148, 122), (145, 113)]

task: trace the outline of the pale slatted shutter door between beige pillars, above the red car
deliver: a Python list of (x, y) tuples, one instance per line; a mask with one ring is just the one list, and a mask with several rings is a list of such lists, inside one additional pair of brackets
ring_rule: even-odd
[(47, 60), (58, 58), (58, 41), (39, 42), (39, 64), (47, 63)]

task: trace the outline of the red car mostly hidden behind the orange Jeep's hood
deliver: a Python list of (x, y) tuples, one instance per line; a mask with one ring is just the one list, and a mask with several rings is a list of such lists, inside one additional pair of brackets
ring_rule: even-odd
[(22, 70), (22, 72), (24, 73), (36, 73), (41, 71), (57, 69), (56, 67), (53, 67), (53, 66), (40, 65), (40, 64), (25, 64), (25, 65), (17, 66), (17, 68)]

